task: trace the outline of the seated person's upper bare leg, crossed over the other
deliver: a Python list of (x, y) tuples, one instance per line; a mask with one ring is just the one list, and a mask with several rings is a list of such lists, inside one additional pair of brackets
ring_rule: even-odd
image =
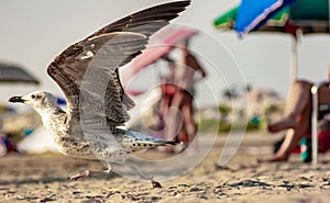
[(270, 132), (278, 132), (282, 129), (297, 127), (298, 115), (311, 103), (311, 83), (301, 80), (297, 80), (292, 83), (285, 104), (284, 117), (277, 122), (268, 124)]

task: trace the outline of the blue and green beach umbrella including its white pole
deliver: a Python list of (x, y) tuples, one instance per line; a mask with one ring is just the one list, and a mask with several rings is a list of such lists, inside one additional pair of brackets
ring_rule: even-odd
[(240, 36), (249, 32), (283, 32), (294, 36), (292, 43), (290, 78), (297, 77), (298, 33), (329, 33), (328, 0), (242, 0), (213, 21), (221, 30), (235, 30)]

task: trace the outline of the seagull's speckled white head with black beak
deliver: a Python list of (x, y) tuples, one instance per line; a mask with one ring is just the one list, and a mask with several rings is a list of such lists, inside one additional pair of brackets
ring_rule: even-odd
[(43, 111), (52, 106), (57, 106), (56, 97), (45, 91), (35, 91), (23, 97), (12, 97), (9, 99), (9, 102), (25, 103), (36, 111)]

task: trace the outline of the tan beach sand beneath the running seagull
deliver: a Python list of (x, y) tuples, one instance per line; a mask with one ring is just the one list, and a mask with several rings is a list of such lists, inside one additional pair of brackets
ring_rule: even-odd
[[(102, 165), (61, 155), (11, 154), (0, 159), (0, 202), (329, 202), (329, 153), (320, 156), (317, 166), (302, 163), (298, 155), (288, 162), (256, 163), (257, 158), (271, 155), (278, 137), (248, 133), (233, 159), (219, 167), (227, 136), (218, 136), (196, 168), (163, 181), (161, 189), (118, 174), (70, 181), (69, 174)], [(154, 150), (146, 154), (163, 156)]]

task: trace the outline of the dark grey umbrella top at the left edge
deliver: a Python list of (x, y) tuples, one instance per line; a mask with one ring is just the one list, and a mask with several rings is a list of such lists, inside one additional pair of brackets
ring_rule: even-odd
[(6, 63), (0, 63), (0, 82), (40, 83), (40, 81), (29, 74), (23, 67)]

